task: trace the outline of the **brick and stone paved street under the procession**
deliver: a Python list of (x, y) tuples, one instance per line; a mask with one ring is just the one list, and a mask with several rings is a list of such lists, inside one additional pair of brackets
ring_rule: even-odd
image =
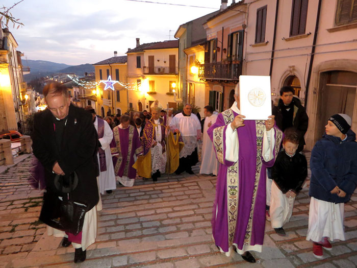
[(346, 241), (333, 243), (322, 260), (305, 240), (308, 228), (309, 181), (295, 201), (287, 236), (266, 222), (262, 253), (249, 264), (237, 254), (226, 257), (212, 240), (211, 216), (216, 177), (186, 173), (158, 183), (137, 180), (102, 196), (96, 243), (87, 260), (74, 264), (74, 249), (47, 236), (38, 221), (42, 193), (27, 181), (33, 156), (0, 174), (0, 267), (356, 267), (357, 194), (345, 205)]

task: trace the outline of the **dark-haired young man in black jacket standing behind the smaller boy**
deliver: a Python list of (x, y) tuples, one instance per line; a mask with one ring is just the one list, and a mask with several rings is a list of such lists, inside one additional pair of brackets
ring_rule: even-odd
[(304, 135), (308, 130), (309, 117), (305, 108), (301, 105), (298, 98), (293, 96), (294, 89), (290, 86), (284, 86), (280, 90), (280, 100), (273, 106), (273, 115), (279, 129), (283, 132), (287, 128), (294, 127), (298, 137), (299, 146), (297, 152), (301, 152), (305, 145)]

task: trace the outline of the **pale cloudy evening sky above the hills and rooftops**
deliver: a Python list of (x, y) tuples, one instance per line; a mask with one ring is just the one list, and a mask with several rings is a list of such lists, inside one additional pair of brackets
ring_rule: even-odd
[[(2, 0), (6, 7), (19, 0)], [(9, 30), (18, 42), (23, 60), (48, 60), (70, 65), (95, 63), (125, 55), (140, 43), (171, 40), (177, 28), (219, 9), (220, 0), (152, 0), (211, 7), (195, 8), (125, 0), (24, 0), (12, 15), (24, 24)], [(232, 3), (228, 0), (228, 5)]]

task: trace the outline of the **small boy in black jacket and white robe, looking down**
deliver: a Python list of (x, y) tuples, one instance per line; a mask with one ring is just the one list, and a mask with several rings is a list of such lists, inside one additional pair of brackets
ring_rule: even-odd
[(302, 183), (308, 176), (306, 158), (296, 153), (299, 140), (296, 132), (285, 131), (283, 148), (272, 167), (270, 218), (271, 227), (278, 235), (285, 236), (283, 225), (289, 222), (293, 212), (295, 197), (302, 189)]

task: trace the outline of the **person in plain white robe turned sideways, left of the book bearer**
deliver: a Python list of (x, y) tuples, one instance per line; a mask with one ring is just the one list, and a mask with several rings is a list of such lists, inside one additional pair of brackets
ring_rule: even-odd
[(213, 143), (207, 134), (207, 130), (211, 125), (216, 123), (218, 113), (213, 112), (213, 107), (210, 105), (205, 106), (203, 109), (205, 114), (205, 123), (203, 124), (203, 143), (202, 143), (202, 160), (200, 174), (218, 174), (218, 160), (216, 158), (216, 152), (213, 148)]

